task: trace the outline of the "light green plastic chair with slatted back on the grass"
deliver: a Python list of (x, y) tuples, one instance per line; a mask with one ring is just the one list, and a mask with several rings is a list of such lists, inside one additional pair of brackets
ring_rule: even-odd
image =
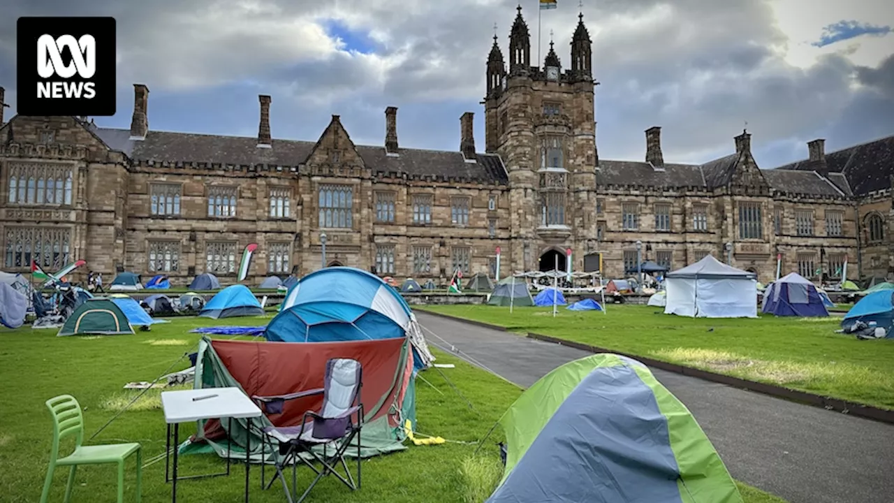
[[(140, 473), (142, 459), (140, 445), (109, 444), (105, 446), (82, 446), (84, 441), (84, 416), (80, 413), (80, 404), (71, 395), (55, 396), (46, 400), (46, 407), (53, 414), (53, 448), (50, 451), (50, 464), (46, 470), (46, 482), (44, 492), (40, 496), (40, 503), (46, 503), (49, 498), (50, 486), (53, 484), (53, 472), (56, 466), (71, 466), (68, 474), (68, 484), (65, 486), (65, 503), (72, 498), (74, 486), (74, 471), (78, 465), (106, 465), (118, 464), (118, 503), (124, 501), (124, 460), (137, 453), (137, 503), (141, 496), (142, 477)], [(74, 452), (71, 455), (59, 459), (59, 441), (66, 437), (77, 435)]]

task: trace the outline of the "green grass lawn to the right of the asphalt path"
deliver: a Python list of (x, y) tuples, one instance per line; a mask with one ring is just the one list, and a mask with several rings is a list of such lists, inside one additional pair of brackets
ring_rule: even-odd
[(610, 304), (606, 313), (486, 305), (422, 309), (894, 409), (894, 343), (834, 333), (839, 317), (713, 319)]

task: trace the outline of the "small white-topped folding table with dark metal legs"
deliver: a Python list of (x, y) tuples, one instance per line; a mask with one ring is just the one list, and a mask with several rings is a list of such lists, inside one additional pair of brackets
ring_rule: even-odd
[[(164, 422), (167, 423), (167, 437), (165, 445), (167, 453), (171, 452), (171, 430), (173, 426), (173, 477), (171, 481), (171, 501), (177, 501), (177, 451), (180, 447), (180, 423), (196, 422), (207, 419), (245, 419), (248, 422), (249, 434), (246, 435), (245, 445), (245, 500), (249, 501), (249, 456), (251, 453), (251, 418), (260, 417), (261, 409), (242, 392), (240, 388), (203, 388), (184, 389), (180, 391), (163, 391), (162, 408), (164, 409)], [(227, 465), (225, 473), (213, 473), (210, 475), (193, 475), (179, 477), (183, 479), (196, 479), (213, 477), (216, 475), (230, 474), (230, 453), (227, 453)], [(164, 458), (164, 482), (168, 482), (168, 458)]]

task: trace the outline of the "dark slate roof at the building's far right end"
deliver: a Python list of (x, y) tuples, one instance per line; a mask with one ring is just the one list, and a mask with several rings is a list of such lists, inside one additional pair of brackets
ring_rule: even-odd
[[(828, 153), (826, 166), (845, 176), (848, 192), (863, 195), (889, 189), (890, 176), (894, 175), (894, 136)], [(804, 159), (778, 169), (813, 170), (814, 163)]]

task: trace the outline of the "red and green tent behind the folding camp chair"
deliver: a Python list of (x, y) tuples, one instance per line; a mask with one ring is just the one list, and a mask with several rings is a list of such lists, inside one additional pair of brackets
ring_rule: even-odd
[[(239, 387), (248, 396), (279, 396), (324, 387), (326, 362), (331, 358), (351, 358), (363, 369), (361, 398), (366, 411), (360, 456), (376, 456), (405, 448), (402, 424), (416, 425), (416, 386), (409, 338), (294, 344), (212, 340), (203, 337), (196, 362), (196, 388)], [(251, 455), (257, 461), (272, 461), (272, 453), (261, 452), (256, 426), (298, 426), (308, 410), (319, 410), (323, 396), (289, 400), (282, 413), (269, 413), (252, 420)], [(245, 420), (200, 422), (198, 433), (182, 452), (213, 448), (227, 456), (230, 442), (233, 458), (243, 458)], [(354, 440), (357, 441), (356, 438)], [(269, 450), (269, 449), (268, 449)], [(349, 448), (347, 456), (356, 453)]]

